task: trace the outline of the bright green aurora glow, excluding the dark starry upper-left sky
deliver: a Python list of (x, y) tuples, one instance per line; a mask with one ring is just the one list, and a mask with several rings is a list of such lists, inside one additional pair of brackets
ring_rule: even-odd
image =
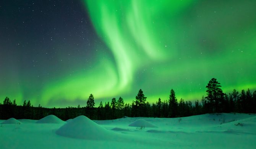
[[(178, 100), (201, 100), (211, 78), (217, 78), (227, 93), (256, 89), (255, 1), (83, 3), (112, 55), (99, 52), (90, 68), (80, 65), (72, 76), (48, 80), (40, 91), (31, 93), (32, 104), (70, 106), (58, 104), (66, 99), (76, 106), (77, 99), (86, 103), (91, 93), (96, 105), (119, 96), (131, 103), (139, 89), (150, 103), (159, 97), (169, 99), (170, 89)], [(26, 98), (23, 89), (17, 87), (15, 94), (6, 89), (0, 97), (10, 93), (21, 103)]]

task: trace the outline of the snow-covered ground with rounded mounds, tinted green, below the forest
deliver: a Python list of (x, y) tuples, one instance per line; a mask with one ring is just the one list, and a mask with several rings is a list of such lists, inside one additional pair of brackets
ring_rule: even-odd
[(255, 149), (256, 115), (218, 113), (95, 121), (79, 116), (68, 122), (51, 115), (39, 121), (0, 120), (0, 148)]

